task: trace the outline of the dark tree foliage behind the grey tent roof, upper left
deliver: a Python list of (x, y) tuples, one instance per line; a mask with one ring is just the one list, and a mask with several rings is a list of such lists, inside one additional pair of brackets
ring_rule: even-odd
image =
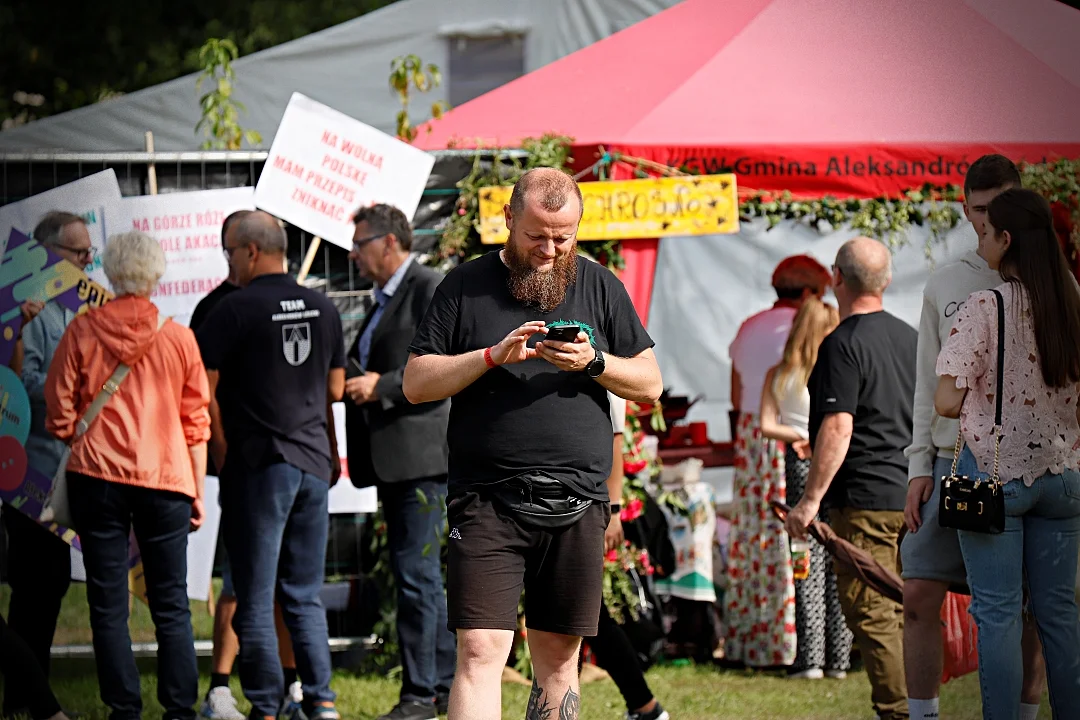
[(202, 69), (210, 38), (240, 55), (343, 23), (393, 0), (5, 0), (0, 120), (22, 121)]

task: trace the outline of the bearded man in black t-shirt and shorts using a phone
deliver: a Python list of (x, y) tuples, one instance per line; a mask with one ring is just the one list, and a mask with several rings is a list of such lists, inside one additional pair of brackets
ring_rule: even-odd
[(581, 212), (566, 174), (522, 176), (505, 248), (446, 276), (409, 348), (409, 402), (453, 398), (450, 720), (501, 717), (523, 586), (536, 669), (526, 717), (578, 717), (578, 647), (596, 634), (610, 514), (607, 391), (637, 402), (662, 392), (622, 283), (577, 256)]

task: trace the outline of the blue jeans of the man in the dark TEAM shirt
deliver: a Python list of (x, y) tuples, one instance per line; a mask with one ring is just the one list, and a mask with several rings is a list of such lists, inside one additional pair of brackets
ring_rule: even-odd
[(273, 602), (293, 638), (303, 702), (333, 703), (326, 611), (319, 594), (329, 527), (326, 480), (287, 463), (221, 478), (225, 547), (237, 590), (240, 683), (252, 717), (275, 717), (285, 679)]

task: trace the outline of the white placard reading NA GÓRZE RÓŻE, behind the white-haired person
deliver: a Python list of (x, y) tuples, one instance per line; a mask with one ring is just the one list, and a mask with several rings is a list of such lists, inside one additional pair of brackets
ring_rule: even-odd
[(245, 209), (255, 209), (252, 188), (124, 198), (108, 208), (109, 232), (141, 230), (161, 244), (165, 274), (151, 300), (187, 325), (195, 304), (229, 274), (221, 223)]

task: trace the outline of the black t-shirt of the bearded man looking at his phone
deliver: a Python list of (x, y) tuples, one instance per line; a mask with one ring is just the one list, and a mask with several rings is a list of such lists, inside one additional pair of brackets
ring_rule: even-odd
[[(622, 283), (606, 268), (577, 261), (577, 282), (546, 314), (510, 294), (499, 253), (455, 268), (435, 291), (409, 351), (461, 355), (498, 344), (529, 321), (580, 325), (602, 352), (618, 357), (651, 348)], [(583, 497), (608, 498), (607, 391), (584, 372), (564, 372), (540, 358), (488, 370), (450, 400), (447, 441), (451, 491), (543, 472)]]

